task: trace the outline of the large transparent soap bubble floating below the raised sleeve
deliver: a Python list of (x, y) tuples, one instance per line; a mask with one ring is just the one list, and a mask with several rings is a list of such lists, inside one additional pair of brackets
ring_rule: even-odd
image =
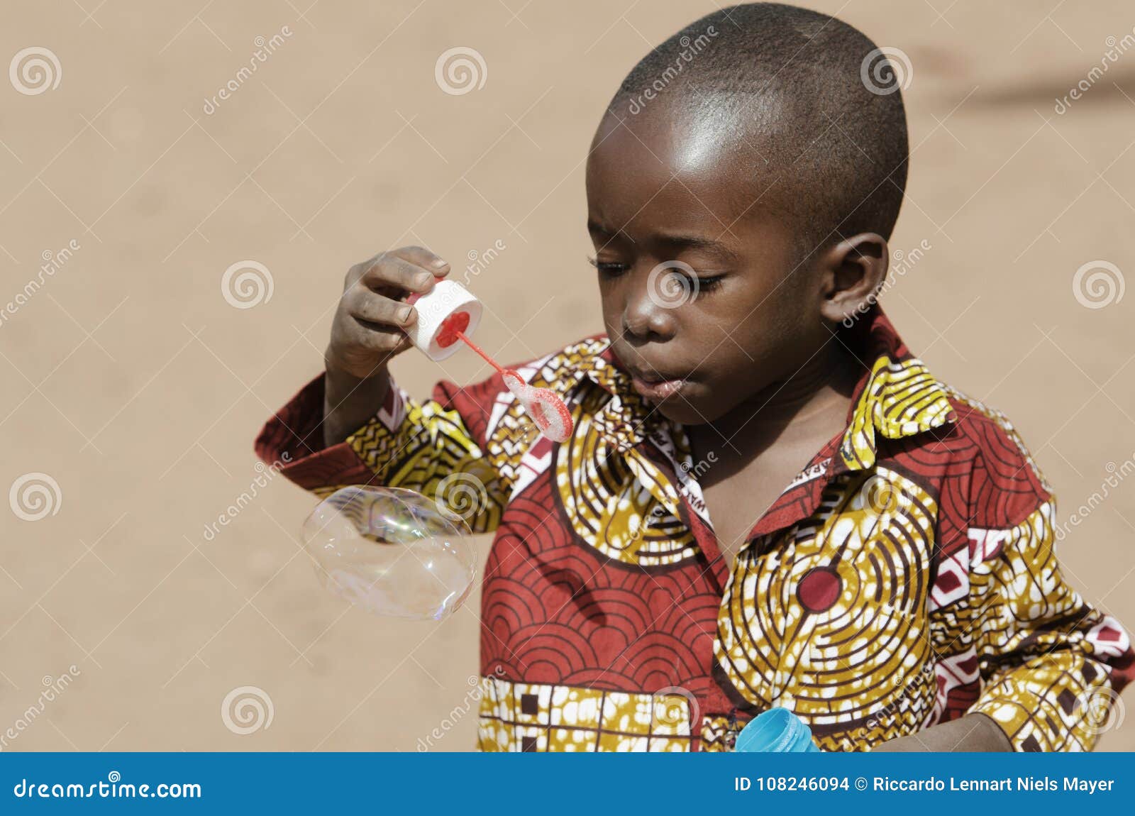
[(323, 584), (378, 615), (436, 621), (452, 614), (477, 575), (469, 528), (401, 488), (344, 487), (303, 524)]

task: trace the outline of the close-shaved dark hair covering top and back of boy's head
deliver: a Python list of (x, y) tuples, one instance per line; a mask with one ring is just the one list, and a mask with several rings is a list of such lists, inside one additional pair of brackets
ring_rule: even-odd
[(900, 77), (883, 60), (863, 33), (825, 14), (732, 6), (642, 58), (609, 111), (628, 124), (641, 113), (701, 120), (745, 152), (750, 201), (785, 214), (810, 254), (858, 233), (890, 238), (898, 218), (907, 124)]

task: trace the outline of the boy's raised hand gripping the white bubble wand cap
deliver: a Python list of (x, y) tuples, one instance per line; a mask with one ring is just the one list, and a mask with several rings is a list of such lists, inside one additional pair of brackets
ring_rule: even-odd
[(429, 292), (448, 274), (449, 264), (421, 246), (389, 250), (351, 267), (323, 354), (328, 375), (384, 373), (389, 360), (411, 346), (404, 329), (418, 320), (402, 298)]

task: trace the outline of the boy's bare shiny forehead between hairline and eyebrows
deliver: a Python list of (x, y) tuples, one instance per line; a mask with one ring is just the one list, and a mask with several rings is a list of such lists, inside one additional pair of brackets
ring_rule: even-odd
[(707, 218), (720, 230), (757, 210), (775, 178), (762, 150), (767, 106), (699, 108), (658, 101), (637, 116), (605, 116), (587, 162), (592, 214), (619, 220), (678, 209), (683, 220)]

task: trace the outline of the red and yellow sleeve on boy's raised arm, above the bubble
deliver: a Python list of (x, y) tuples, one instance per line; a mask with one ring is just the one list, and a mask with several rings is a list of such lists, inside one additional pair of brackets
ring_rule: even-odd
[(346, 440), (323, 445), (323, 376), (268, 420), (257, 455), (300, 487), (328, 495), (346, 485), (415, 490), (461, 515), (476, 532), (493, 530), (507, 485), (484, 454), (499, 375), (461, 388), (443, 381), (418, 402), (392, 381), (385, 404)]

